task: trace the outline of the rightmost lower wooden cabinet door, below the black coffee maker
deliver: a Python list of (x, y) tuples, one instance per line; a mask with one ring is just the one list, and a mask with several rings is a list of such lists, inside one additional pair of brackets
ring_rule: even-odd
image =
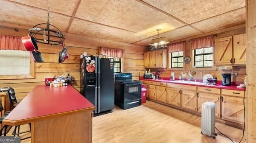
[(232, 121), (236, 123), (244, 123), (244, 104), (243, 98), (238, 97), (221, 97), (221, 118), (223, 120)]

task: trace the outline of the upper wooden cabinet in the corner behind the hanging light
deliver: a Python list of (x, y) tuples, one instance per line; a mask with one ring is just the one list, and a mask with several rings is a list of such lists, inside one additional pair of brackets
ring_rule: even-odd
[(144, 67), (167, 68), (167, 50), (152, 50), (144, 53)]

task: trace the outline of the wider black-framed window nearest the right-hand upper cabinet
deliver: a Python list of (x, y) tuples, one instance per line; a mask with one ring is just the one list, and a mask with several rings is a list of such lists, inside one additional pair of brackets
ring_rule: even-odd
[(212, 67), (212, 47), (194, 50), (194, 67)]

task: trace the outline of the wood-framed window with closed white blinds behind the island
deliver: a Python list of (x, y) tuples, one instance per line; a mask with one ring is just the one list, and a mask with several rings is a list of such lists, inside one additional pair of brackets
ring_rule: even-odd
[(35, 64), (31, 60), (27, 51), (0, 50), (0, 79), (34, 78)]

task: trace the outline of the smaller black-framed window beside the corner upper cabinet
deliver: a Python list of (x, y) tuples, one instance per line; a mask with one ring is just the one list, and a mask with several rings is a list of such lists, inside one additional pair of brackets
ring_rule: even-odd
[(169, 53), (171, 68), (183, 68), (183, 51)]

